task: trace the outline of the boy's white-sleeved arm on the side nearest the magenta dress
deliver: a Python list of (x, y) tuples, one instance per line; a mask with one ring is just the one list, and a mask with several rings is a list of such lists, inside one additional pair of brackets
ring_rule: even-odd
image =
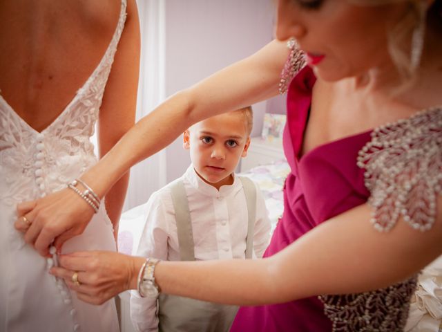
[(253, 230), (253, 252), (255, 252), (257, 258), (261, 258), (267, 246), (269, 246), (271, 226), (262, 192), (256, 183), (253, 184), (256, 187), (256, 221)]

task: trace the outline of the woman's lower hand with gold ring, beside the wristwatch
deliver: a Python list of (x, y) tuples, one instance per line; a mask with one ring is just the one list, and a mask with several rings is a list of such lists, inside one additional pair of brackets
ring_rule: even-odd
[(51, 268), (50, 274), (64, 278), (82, 301), (103, 304), (115, 295), (137, 287), (138, 271), (144, 261), (144, 258), (117, 252), (75, 252), (59, 256), (60, 266)]

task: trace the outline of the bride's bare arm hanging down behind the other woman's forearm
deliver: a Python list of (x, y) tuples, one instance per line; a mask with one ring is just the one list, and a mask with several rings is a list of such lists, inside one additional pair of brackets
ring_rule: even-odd
[[(119, 39), (99, 110), (97, 137), (100, 158), (107, 154), (135, 124), (140, 73), (140, 23), (135, 0), (128, 1), (126, 11), (126, 23), (122, 37)], [(131, 61), (131, 66), (127, 66), (128, 59)], [(106, 194), (106, 212), (113, 223), (115, 239), (128, 181), (129, 172), (124, 174)]]

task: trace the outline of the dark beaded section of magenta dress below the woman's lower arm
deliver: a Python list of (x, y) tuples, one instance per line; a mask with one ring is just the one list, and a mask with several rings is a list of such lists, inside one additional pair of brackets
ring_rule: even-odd
[(324, 313), (333, 332), (403, 331), (416, 277), (377, 291), (350, 295), (323, 295)]

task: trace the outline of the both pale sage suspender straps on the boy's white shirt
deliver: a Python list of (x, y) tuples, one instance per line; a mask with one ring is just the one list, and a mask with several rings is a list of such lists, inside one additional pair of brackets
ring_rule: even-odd
[[(249, 178), (238, 176), (242, 182), (244, 196), (247, 202), (247, 242), (246, 258), (253, 257), (253, 232), (256, 219), (256, 187)], [(173, 208), (175, 209), (175, 220), (177, 223), (178, 245), (180, 246), (180, 259), (182, 261), (195, 260), (195, 245), (193, 243), (192, 221), (189, 212), (186, 190), (183, 181), (176, 181), (171, 186)]]

